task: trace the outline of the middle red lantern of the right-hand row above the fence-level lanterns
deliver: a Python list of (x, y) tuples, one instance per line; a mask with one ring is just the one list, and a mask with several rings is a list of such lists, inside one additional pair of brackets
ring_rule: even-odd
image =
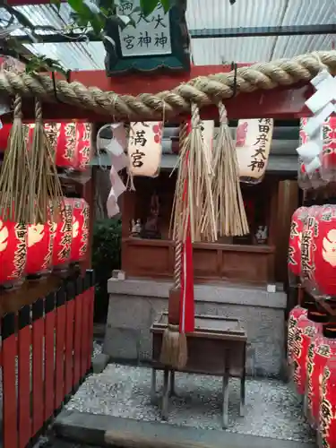
[(318, 218), (321, 207), (308, 208), (301, 237), (301, 282), (308, 291), (314, 289), (314, 238), (318, 236)]

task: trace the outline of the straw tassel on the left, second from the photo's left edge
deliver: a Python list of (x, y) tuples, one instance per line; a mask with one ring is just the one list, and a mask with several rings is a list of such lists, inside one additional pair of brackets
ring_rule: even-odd
[[(50, 217), (48, 210), (58, 215), (58, 209), (63, 202), (62, 187), (57, 176), (55, 154), (42, 121), (42, 108), (38, 99), (35, 101), (35, 128), (30, 148), (30, 223), (45, 223)], [(63, 207), (62, 207), (63, 208)]]

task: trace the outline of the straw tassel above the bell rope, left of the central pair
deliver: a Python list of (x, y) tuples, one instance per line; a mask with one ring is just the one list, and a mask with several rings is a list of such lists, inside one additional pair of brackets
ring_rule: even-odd
[(192, 129), (180, 148), (177, 186), (173, 206), (173, 237), (185, 241), (190, 221), (192, 242), (217, 239), (212, 198), (211, 150), (202, 139), (199, 108), (192, 105)]

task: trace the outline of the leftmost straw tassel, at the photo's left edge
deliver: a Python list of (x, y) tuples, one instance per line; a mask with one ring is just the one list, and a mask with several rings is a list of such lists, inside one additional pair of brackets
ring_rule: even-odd
[(13, 126), (0, 174), (0, 216), (3, 220), (26, 222), (29, 218), (26, 201), (30, 167), (20, 96), (15, 96), (13, 107)]

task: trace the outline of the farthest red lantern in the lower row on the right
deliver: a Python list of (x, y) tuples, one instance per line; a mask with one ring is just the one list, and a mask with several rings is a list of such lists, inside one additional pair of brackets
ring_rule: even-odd
[(328, 322), (328, 315), (315, 309), (309, 309), (298, 319), (294, 335), (293, 345), (293, 381), (297, 386), (297, 392), (304, 394), (306, 391), (306, 361), (308, 349), (317, 333), (322, 332), (322, 325)]

